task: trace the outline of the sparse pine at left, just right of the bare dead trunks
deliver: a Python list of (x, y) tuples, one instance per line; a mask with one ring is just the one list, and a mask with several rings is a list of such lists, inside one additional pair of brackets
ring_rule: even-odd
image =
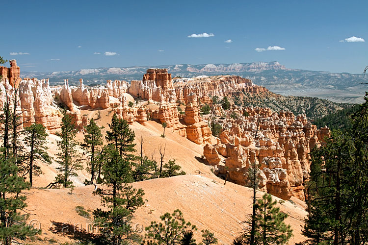
[(26, 137), (24, 143), (29, 147), (29, 152), (25, 154), (26, 173), (29, 175), (29, 183), (33, 185), (33, 175), (40, 175), (43, 172), (37, 165), (37, 161), (51, 164), (51, 157), (47, 153), (48, 147), (46, 128), (42, 124), (32, 124), (24, 129)]

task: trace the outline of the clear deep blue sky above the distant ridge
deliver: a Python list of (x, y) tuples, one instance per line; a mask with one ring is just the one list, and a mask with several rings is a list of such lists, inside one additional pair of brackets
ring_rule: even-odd
[[(363, 0), (4, 1), (0, 56), (38, 72), (279, 61), (362, 73), (367, 8)], [(188, 37), (202, 33), (209, 37)], [(283, 50), (263, 50), (274, 46)]]

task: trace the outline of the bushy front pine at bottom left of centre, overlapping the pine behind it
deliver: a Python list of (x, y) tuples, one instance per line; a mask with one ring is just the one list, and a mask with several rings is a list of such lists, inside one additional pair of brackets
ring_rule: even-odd
[(132, 181), (131, 164), (120, 156), (113, 146), (106, 149), (107, 161), (102, 166), (103, 184), (106, 189), (98, 188), (102, 204), (108, 210), (94, 211), (95, 223), (103, 227), (101, 232), (108, 244), (121, 245), (123, 241), (136, 239), (139, 234), (131, 227), (131, 220), (137, 208), (144, 204), (142, 189), (136, 190)]

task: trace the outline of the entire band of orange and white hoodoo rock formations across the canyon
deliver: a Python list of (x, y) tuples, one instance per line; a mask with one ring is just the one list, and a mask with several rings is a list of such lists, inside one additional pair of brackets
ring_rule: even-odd
[[(10, 64), (8, 70), (19, 74), (16, 61)], [(203, 159), (215, 174), (239, 185), (249, 185), (248, 174), (256, 162), (259, 189), (283, 199), (305, 199), (309, 153), (329, 136), (328, 128), (317, 129), (305, 114), (234, 104), (238, 97), (269, 95), (266, 88), (236, 75), (172, 78), (167, 69), (148, 69), (142, 80), (130, 83), (107, 80), (105, 86), (88, 87), (80, 79), (79, 86), (70, 86), (65, 79), (62, 86), (50, 87), (48, 79), (18, 82), (14, 72), (1, 71), (0, 105), (6, 96), (19, 97), (24, 126), (41, 123), (55, 133), (61, 108), (73, 116), (80, 131), (88, 123), (87, 109), (111, 109), (130, 124), (166, 123), (173, 133), (202, 146)], [(224, 110), (214, 97), (228, 97), (231, 108)], [(209, 115), (201, 113), (205, 104), (210, 105)], [(218, 137), (212, 136), (214, 123), (223, 129)]]

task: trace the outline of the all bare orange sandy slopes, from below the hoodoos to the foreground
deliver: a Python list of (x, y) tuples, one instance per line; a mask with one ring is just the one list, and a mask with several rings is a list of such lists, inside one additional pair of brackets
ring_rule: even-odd
[[(100, 118), (97, 110), (84, 110), (89, 118), (96, 119), (100, 126), (105, 126), (102, 130), (105, 134), (113, 115), (111, 109), (101, 110)], [(99, 119), (98, 119), (99, 118)], [(197, 225), (197, 241), (201, 240), (200, 230), (209, 229), (215, 233), (220, 244), (230, 244), (241, 230), (240, 221), (243, 221), (251, 213), (252, 191), (217, 178), (211, 171), (210, 166), (203, 163), (201, 156), (203, 146), (179, 136), (177, 133), (167, 128), (165, 138), (160, 137), (162, 126), (160, 123), (149, 121), (145, 125), (133, 123), (131, 129), (135, 133), (135, 143), (137, 144), (136, 154), (140, 153), (139, 141), (141, 136), (144, 140), (143, 152), (150, 158), (159, 161), (158, 147), (166, 143), (164, 161), (176, 159), (177, 164), (182, 166), (187, 175), (164, 179), (152, 179), (133, 183), (136, 188), (143, 188), (145, 199), (148, 201), (144, 207), (136, 212), (137, 227), (147, 226), (153, 220), (158, 220), (159, 216), (165, 212), (172, 212), (180, 209), (184, 213), (184, 218)], [(57, 140), (59, 137), (50, 135), (48, 152), (56, 160)], [(83, 133), (77, 135), (81, 142)], [(83, 150), (79, 148), (83, 155)], [(152, 155), (153, 154), (153, 155)], [(86, 162), (82, 161), (86, 167)], [(45, 187), (52, 182), (57, 174), (55, 168), (58, 164), (53, 161), (51, 165), (42, 165), (45, 174), (35, 177), (35, 187)], [(78, 241), (91, 234), (86, 233), (88, 223), (92, 220), (85, 219), (77, 214), (76, 206), (83, 206), (85, 210), (92, 213), (100, 206), (100, 197), (92, 194), (94, 186), (84, 186), (84, 179), (88, 178), (86, 170), (79, 171), (78, 177), (72, 180), (76, 186), (73, 194), (70, 189), (31, 189), (32, 195), (27, 199), (28, 209), (31, 213), (30, 220), (35, 224), (40, 222), (42, 234), (40, 240), (34, 240), (31, 244), (48, 244), (53, 238), (58, 243)], [(262, 193), (259, 193), (259, 197)], [(278, 199), (279, 200), (279, 199)], [(289, 214), (287, 223), (291, 224), (294, 232), (290, 244), (303, 240), (301, 226), (306, 215), (304, 204), (298, 199), (292, 199), (296, 205), (289, 201), (280, 204), (281, 210)], [(79, 231), (78, 227), (82, 227)]]

